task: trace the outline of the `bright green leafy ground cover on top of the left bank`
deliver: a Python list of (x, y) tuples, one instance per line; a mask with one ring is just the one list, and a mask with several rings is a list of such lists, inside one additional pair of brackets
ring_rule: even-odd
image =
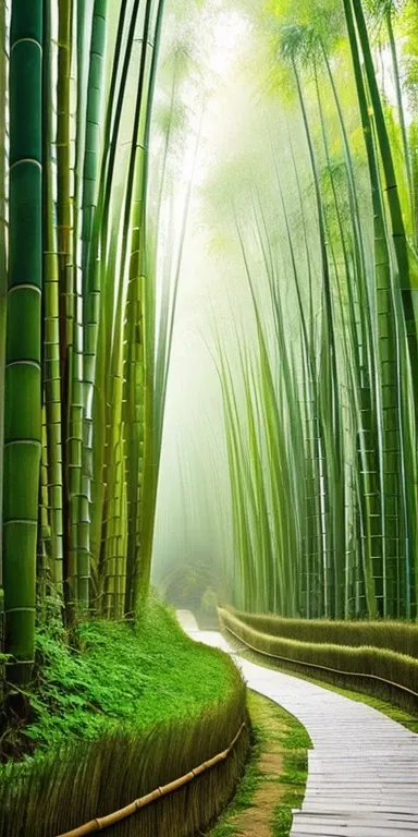
[[(225, 700), (235, 676), (219, 651), (193, 643), (173, 612), (151, 599), (139, 626), (81, 622), (71, 640), (59, 621), (37, 634), (35, 680), (0, 741), (3, 760), (95, 740), (118, 728), (140, 731), (198, 716)], [(23, 708), (22, 708), (23, 704)]]

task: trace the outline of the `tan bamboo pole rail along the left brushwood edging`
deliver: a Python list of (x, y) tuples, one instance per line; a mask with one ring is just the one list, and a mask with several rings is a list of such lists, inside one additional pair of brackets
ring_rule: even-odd
[(121, 820), (125, 820), (127, 816), (132, 816), (132, 814), (135, 814), (139, 809), (149, 805), (150, 802), (155, 802), (157, 799), (165, 797), (169, 793), (172, 793), (174, 790), (179, 790), (179, 788), (182, 788), (184, 785), (188, 785), (188, 783), (193, 781), (196, 776), (200, 776), (200, 774), (211, 769), (211, 767), (214, 767), (220, 762), (226, 761), (244, 727), (245, 723), (241, 725), (235, 738), (231, 741), (226, 750), (218, 753), (218, 755), (209, 759), (209, 761), (199, 764), (198, 767), (194, 767), (193, 771), (186, 773), (184, 776), (181, 776), (179, 779), (174, 779), (174, 781), (170, 781), (168, 785), (163, 785), (161, 788), (156, 788), (156, 790), (152, 790), (145, 797), (135, 799), (134, 802), (125, 805), (125, 808), (120, 808), (119, 811), (114, 811), (112, 814), (108, 814), (107, 816), (98, 816), (96, 820), (90, 820), (88, 823), (81, 825), (78, 828), (73, 828), (72, 832), (65, 832), (65, 834), (58, 835), (58, 837), (84, 837), (86, 834), (101, 832), (103, 828), (109, 828), (109, 826), (119, 823)]

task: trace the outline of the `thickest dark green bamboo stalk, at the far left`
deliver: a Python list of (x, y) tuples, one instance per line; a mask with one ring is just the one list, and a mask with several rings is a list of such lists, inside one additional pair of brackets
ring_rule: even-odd
[[(3, 571), (9, 677), (30, 676), (40, 465), (42, 2), (13, 0)], [(25, 247), (22, 247), (22, 213)]]

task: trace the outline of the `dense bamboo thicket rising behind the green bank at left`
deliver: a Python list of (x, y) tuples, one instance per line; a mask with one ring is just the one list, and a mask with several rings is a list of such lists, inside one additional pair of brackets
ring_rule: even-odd
[(161, 142), (152, 102), (163, 10), (163, 0), (11, 4), (10, 85), (5, 49), (0, 68), (4, 113), (10, 87), (0, 555), (4, 650), (23, 678), (47, 601), (71, 623), (88, 611), (135, 617), (148, 592), (177, 280), (159, 243), (172, 219), (153, 199), (165, 199), (170, 167), (150, 155)]

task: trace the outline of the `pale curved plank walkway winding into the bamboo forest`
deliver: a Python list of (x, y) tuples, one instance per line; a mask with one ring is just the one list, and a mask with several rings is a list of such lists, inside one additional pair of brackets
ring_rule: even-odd
[(194, 640), (229, 652), (250, 689), (307, 729), (314, 749), (291, 837), (418, 837), (418, 735), (365, 703), (244, 659), (186, 610), (177, 618)]

